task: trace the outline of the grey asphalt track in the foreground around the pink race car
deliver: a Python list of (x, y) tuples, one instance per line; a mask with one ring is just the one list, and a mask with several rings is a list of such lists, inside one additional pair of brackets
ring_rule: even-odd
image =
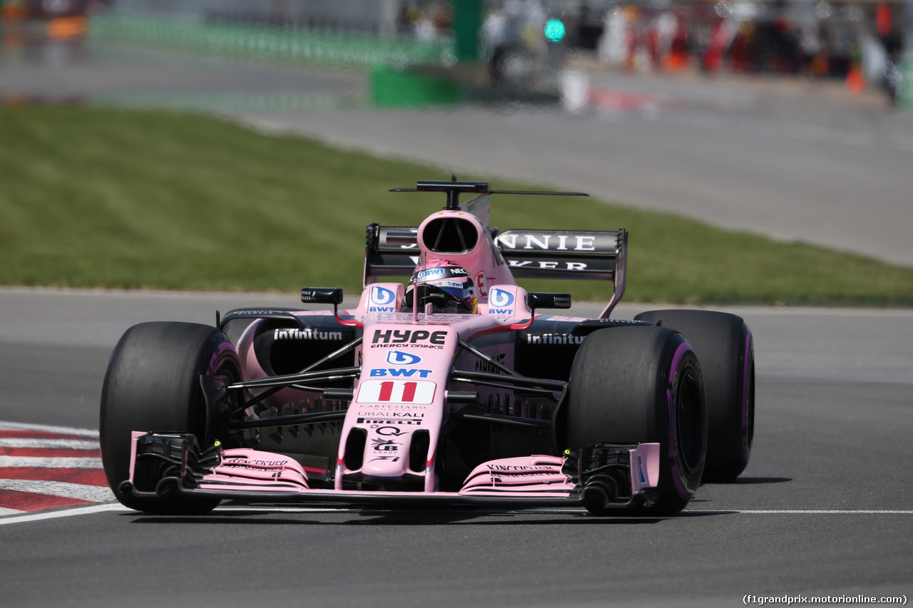
[[(94, 428), (114, 342), (143, 320), (295, 296), (0, 290), (0, 420)], [(630, 318), (647, 307), (622, 305)], [(581, 314), (596, 308), (582, 306)], [(114, 505), (0, 517), (9, 606), (731, 606), (913, 592), (913, 311), (734, 309), (758, 367), (748, 469), (664, 519), (569, 509)], [(47, 518), (47, 519), (40, 519)]]

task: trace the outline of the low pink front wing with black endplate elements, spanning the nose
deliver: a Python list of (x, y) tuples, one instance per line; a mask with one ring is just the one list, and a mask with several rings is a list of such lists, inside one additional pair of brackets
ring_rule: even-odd
[(322, 482), (289, 456), (217, 446), (201, 451), (189, 434), (134, 432), (132, 442), (131, 476), (120, 489), (149, 498), (515, 507), (583, 506), (595, 498), (607, 508), (629, 508), (652, 505), (659, 480), (659, 444), (600, 444), (582, 449), (579, 457), (492, 460), (477, 466), (459, 491), (426, 492), (312, 487)]

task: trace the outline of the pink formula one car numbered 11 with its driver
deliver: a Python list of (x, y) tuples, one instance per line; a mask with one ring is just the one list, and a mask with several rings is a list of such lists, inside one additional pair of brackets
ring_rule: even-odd
[[(331, 309), (238, 309), (217, 327), (132, 327), (101, 397), (105, 473), (156, 513), (223, 499), (357, 505), (581, 506), (671, 514), (738, 477), (754, 417), (739, 317), (610, 317), (627, 233), (488, 226), (485, 182), (415, 227), (368, 226), (364, 289), (303, 288)], [(459, 204), (461, 194), (473, 194)], [(579, 194), (579, 193), (559, 193)], [(387, 282), (409, 277), (406, 285)], [(516, 278), (610, 280), (598, 319)]]

